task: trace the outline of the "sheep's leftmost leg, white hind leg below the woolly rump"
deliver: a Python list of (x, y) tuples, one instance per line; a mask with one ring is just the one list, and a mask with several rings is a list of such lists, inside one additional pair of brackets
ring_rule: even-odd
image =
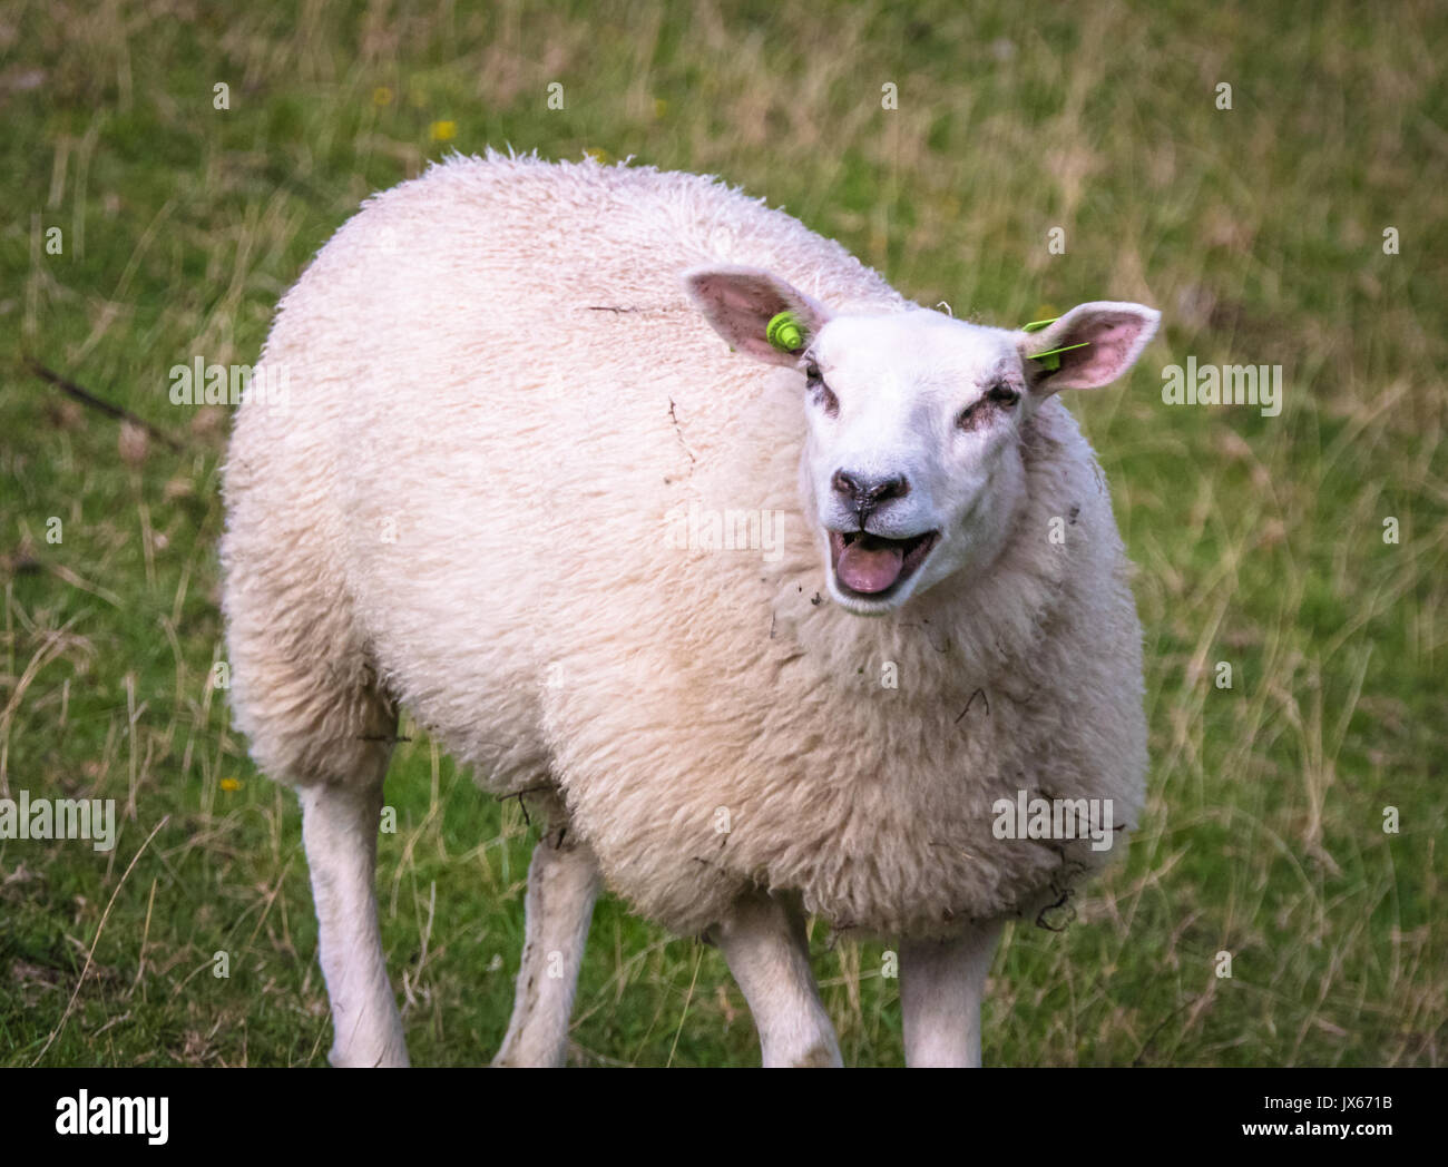
[(332, 1000), (333, 1066), (407, 1066), (376, 919), (376, 831), (382, 769), (355, 785), (297, 791), (301, 840), (317, 903), (317, 948)]

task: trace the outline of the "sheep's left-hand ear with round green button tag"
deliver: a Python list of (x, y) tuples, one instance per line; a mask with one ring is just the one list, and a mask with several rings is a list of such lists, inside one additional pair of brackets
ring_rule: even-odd
[[(691, 268), (683, 274), (683, 288), (731, 349), (775, 365), (796, 363), (830, 319), (822, 304), (763, 268)], [(770, 339), (769, 321), (780, 313), (791, 313), (794, 320), (779, 321)]]

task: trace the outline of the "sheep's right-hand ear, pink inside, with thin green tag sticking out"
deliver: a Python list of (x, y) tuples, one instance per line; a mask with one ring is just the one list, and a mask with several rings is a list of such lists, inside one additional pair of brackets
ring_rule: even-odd
[(1038, 394), (1109, 385), (1137, 363), (1161, 313), (1141, 304), (1080, 304), (1040, 332), (1018, 334), (1027, 379)]

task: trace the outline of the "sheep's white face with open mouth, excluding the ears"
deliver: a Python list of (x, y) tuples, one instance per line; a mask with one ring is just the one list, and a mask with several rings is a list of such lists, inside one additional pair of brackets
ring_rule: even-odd
[(841, 316), (802, 352), (807, 507), (830, 594), (898, 608), (999, 553), (1035, 407), (1011, 333), (933, 311)]

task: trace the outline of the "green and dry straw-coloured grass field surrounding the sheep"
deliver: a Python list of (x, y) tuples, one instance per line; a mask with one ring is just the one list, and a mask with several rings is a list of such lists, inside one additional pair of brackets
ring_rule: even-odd
[[(1161, 307), (1073, 403), (1140, 565), (1150, 805), (1066, 931), (1008, 930), (986, 1060), (1442, 1064), (1445, 35), (1431, 3), (6, 6), (0, 796), (113, 798), (120, 837), (0, 840), (0, 1064), (324, 1061), (295, 799), (213, 683), (227, 418), (167, 372), (252, 363), (361, 198), (489, 143), (725, 175), (957, 316)], [(1281, 414), (1164, 405), (1187, 355), (1281, 365)], [(414, 1061), (475, 1064), (533, 831), (410, 733), (384, 940)], [(899, 1063), (883, 945), (812, 941), (846, 1061)], [(605, 901), (573, 1058), (757, 1047), (717, 951)]]

